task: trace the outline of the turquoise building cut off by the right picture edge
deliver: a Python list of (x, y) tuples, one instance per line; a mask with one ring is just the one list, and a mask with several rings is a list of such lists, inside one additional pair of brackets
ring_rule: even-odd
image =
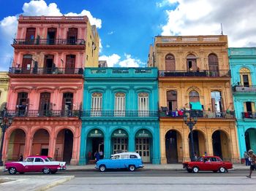
[(256, 152), (256, 47), (229, 48), (240, 155)]

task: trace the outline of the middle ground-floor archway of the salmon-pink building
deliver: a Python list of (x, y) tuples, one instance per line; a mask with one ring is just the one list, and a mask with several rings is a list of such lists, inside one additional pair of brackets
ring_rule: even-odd
[[(45, 129), (39, 129), (34, 133), (32, 144), (32, 155), (48, 156), (49, 151), (49, 133)], [(50, 156), (53, 157), (53, 156)]]

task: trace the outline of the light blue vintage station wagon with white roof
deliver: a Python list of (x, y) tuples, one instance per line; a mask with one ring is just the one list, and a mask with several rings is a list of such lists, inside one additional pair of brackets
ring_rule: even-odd
[(135, 171), (136, 168), (143, 168), (143, 161), (136, 152), (122, 152), (111, 155), (110, 159), (102, 159), (97, 161), (95, 168), (104, 172), (106, 169), (128, 168), (129, 171)]

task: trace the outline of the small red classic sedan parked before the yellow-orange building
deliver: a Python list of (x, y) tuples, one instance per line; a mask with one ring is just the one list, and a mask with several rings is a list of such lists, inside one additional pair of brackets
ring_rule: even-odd
[(225, 173), (228, 169), (233, 168), (233, 164), (224, 162), (217, 156), (203, 156), (198, 157), (197, 161), (183, 163), (183, 168), (186, 168), (189, 173), (197, 173), (198, 171), (219, 171), (220, 173)]

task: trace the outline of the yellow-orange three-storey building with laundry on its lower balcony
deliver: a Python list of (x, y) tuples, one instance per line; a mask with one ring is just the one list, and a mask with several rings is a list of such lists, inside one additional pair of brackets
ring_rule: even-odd
[(184, 110), (197, 110), (195, 154), (238, 163), (227, 36), (156, 36), (148, 66), (159, 69), (161, 163), (189, 160)]

